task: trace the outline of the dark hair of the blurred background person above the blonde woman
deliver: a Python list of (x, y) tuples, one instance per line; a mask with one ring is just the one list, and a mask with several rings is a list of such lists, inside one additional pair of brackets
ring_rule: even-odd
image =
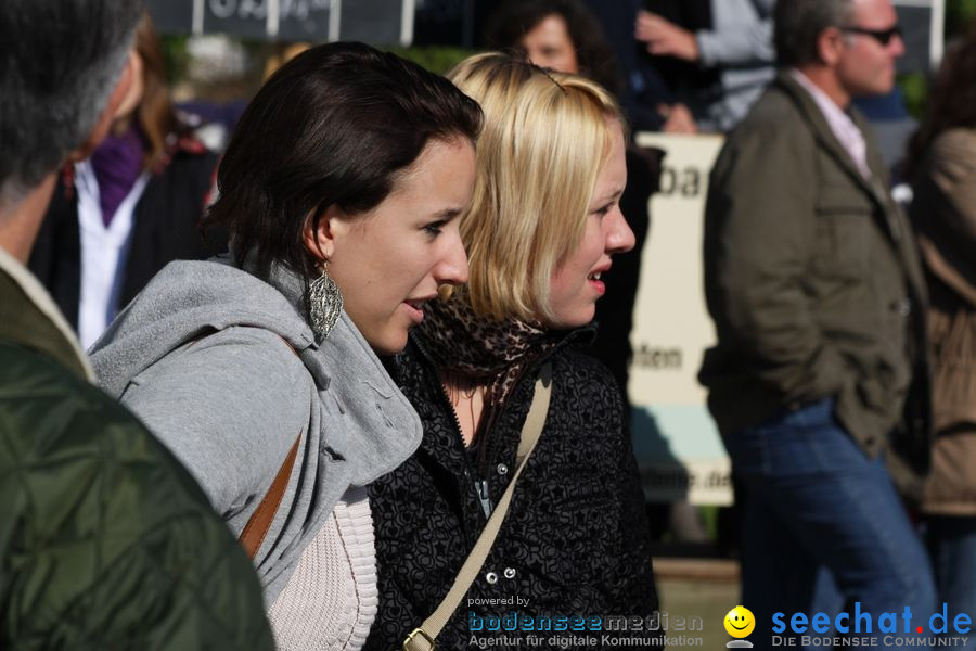
[(485, 29), (490, 49), (525, 59), (522, 39), (549, 16), (566, 23), (579, 72), (614, 94), (620, 90), (614, 53), (596, 17), (579, 0), (508, 0), (491, 14)]

